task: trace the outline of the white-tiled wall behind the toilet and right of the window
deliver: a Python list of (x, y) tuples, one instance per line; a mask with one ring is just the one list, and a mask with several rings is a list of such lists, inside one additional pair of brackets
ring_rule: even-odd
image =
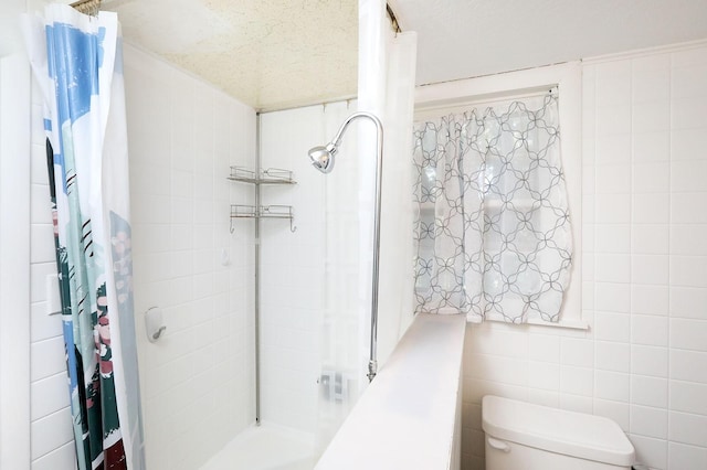
[(706, 43), (585, 61), (591, 328), (468, 325), (464, 468), (483, 469), (485, 394), (608, 416), (653, 469), (707, 468), (706, 83)]

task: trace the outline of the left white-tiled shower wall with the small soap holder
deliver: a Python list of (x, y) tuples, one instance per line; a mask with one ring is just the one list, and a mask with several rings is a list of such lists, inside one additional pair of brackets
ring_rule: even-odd
[(229, 218), (253, 193), (226, 177), (253, 164), (255, 113), (135, 47), (125, 75), (147, 463), (194, 469), (254, 419), (253, 235)]

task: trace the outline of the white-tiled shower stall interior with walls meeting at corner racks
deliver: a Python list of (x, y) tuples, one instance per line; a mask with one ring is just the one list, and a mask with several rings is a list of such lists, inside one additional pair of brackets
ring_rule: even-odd
[[(368, 384), (376, 126), (351, 124), (331, 174), (307, 158), (354, 113), (381, 117), (391, 156), (381, 366), (412, 318), (412, 165), (388, 146), (411, 138), (415, 38), (394, 36), (384, 2), (360, 8), (356, 100), (257, 114), (126, 47), (136, 311), (159, 307), (167, 327), (151, 343), (138, 321), (150, 469), (312, 469)], [(386, 74), (409, 86), (387, 93)], [(229, 180), (231, 165), (286, 169), (296, 184), (256, 189)], [(232, 204), (291, 206), (296, 231), (231, 221)]]

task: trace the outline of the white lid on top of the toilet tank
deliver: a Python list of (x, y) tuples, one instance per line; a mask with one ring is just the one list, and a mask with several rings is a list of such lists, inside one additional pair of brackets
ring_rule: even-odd
[(497, 439), (614, 466), (634, 463), (634, 449), (609, 418), (486, 395), (484, 431)]

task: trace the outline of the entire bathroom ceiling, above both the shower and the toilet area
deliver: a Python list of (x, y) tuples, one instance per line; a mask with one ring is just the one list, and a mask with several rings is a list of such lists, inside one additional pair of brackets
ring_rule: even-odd
[[(705, 0), (389, 0), (429, 84), (707, 39)], [(356, 95), (358, 0), (104, 0), (126, 41), (256, 109)]]

